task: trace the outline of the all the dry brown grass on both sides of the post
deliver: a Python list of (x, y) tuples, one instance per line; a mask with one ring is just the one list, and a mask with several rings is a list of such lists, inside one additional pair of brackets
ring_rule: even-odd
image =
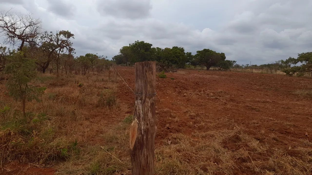
[[(59, 78), (44, 75), (35, 84), (48, 88), (42, 102), (27, 103), (27, 119), (20, 115), (20, 103), (12, 101), (4, 91), (0, 94), (0, 152), (8, 145), (4, 163), (22, 160), (23, 163), (55, 165), (59, 175), (130, 174), (129, 125), (133, 116), (124, 115), (128, 109), (117, 99), (117, 84), (107, 73)], [(310, 93), (301, 91), (298, 95)], [(225, 101), (231, 95), (209, 89), (184, 93)], [(259, 104), (271, 102), (257, 100)], [(253, 106), (246, 108), (259, 110)], [(167, 113), (171, 122), (181, 120), (168, 108), (159, 109), (157, 113)], [(209, 121), (197, 117), (197, 111), (191, 109), (186, 109), (185, 114), (209, 130), (193, 130), (188, 135), (170, 134), (157, 141), (155, 172), (158, 175), (312, 173), (312, 143), (307, 139), (296, 140), (297, 147), (290, 149), (270, 147), (266, 141), (247, 134), (243, 125), (228, 118)], [(124, 116), (124, 120), (118, 121), (116, 116)], [(232, 129), (218, 129), (221, 121)], [(264, 121), (296, 127), (289, 121), (271, 118), (264, 118)], [(257, 122), (250, 124), (257, 126)], [(265, 130), (257, 134), (272, 142), (282, 139), (281, 135)]]

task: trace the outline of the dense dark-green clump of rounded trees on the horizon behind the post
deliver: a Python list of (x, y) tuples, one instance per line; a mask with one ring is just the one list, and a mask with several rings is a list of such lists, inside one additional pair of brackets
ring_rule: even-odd
[(183, 47), (172, 48), (152, 47), (150, 43), (135, 41), (129, 46), (119, 50), (119, 54), (112, 59), (116, 64), (133, 65), (141, 61), (157, 61), (160, 68), (185, 68), (190, 64), (193, 66), (206, 66), (209, 70), (212, 66), (219, 69), (230, 69), (236, 61), (226, 60), (224, 53), (217, 53), (210, 49), (198, 50), (195, 55), (185, 52)]

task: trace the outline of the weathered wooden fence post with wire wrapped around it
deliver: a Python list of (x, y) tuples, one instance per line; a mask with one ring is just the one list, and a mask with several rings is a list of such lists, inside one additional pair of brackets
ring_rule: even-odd
[(130, 126), (132, 175), (154, 175), (156, 62), (134, 65), (135, 109)]

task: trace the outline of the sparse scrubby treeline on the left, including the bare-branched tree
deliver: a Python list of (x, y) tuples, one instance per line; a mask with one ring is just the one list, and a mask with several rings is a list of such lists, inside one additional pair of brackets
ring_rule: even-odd
[(97, 54), (74, 57), (74, 34), (65, 30), (42, 31), (41, 20), (34, 19), (31, 14), (0, 12), (0, 35), (4, 39), (1, 43), (17, 46), (13, 50), (0, 46), (0, 74), (5, 72), (8, 65), (27, 61), (29, 68), (36, 68), (42, 73), (48, 70), (56, 74), (65, 71), (66, 74), (82, 75), (90, 71), (101, 72), (113, 64), (106, 56)]

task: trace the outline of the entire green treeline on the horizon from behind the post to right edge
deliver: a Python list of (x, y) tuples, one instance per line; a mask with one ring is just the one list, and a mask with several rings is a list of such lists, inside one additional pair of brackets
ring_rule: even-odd
[[(152, 47), (150, 43), (135, 41), (129, 46), (119, 50), (119, 54), (112, 59), (116, 64), (126, 66), (141, 61), (157, 61), (161, 69), (165, 68), (186, 68), (189, 66), (205, 66), (207, 70), (211, 67), (228, 70), (235, 69), (261, 69), (268, 73), (276, 73), (278, 70), (289, 76), (302, 76), (312, 71), (312, 52), (298, 54), (298, 58), (275, 61), (271, 64), (249, 65), (236, 64), (234, 60), (226, 60), (224, 53), (217, 53), (210, 49), (198, 50), (195, 55), (185, 52), (183, 47), (173, 46), (172, 48)], [(300, 66), (296, 66), (300, 63)]]

